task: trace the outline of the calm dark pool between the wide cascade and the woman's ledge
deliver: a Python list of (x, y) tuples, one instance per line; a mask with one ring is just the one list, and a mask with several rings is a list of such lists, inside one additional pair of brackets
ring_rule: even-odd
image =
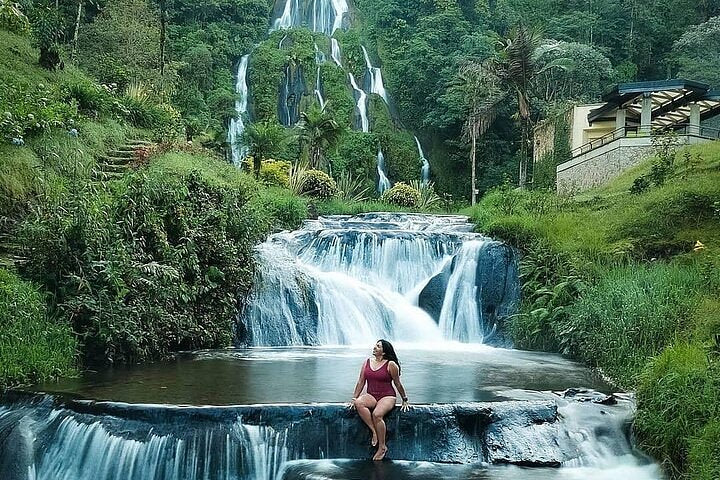
[[(128, 403), (249, 405), (344, 402), (352, 396), (363, 347), (276, 347), (199, 351), (174, 360), (86, 372), (35, 391)], [(438, 343), (396, 344), (411, 403), (534, 398), (536, 392), (612, 388), (559, 355)]]

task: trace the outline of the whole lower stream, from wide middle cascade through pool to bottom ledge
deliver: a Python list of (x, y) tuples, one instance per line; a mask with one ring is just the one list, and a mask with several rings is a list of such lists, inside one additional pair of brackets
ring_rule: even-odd
[[(516, 254), (467, 218), (321, 217), (256, 257), (237, 346), (0, 397), (0, 478), (663, 478), (633, 446), (631, 396), (507, 348)], [(388, 415), (378, 463), (342, 402), (380, 337), (414, 408)]]

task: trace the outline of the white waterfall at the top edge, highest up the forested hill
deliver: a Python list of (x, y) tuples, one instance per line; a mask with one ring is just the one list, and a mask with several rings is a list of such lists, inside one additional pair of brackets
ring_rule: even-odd
[(313, 32), (329, 36), (342, 27), (348, 10), (346, 0), (312, 0), (312, 5), (304, 16), (300, 0), (286, 0), (283, 12), (273, 23), (272, 30), (307, 26)]

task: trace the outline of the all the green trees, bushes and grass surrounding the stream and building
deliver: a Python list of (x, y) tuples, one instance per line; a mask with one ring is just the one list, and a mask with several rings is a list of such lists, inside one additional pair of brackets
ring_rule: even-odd
[(515, 344), (637, 391), (643, 447), (717, 479), (717, 142), (576, 198), (553, 188), (568, 148), (529, 158), (613, 84), (720, 87), (720, 0), (355, 0), (338, 60), (273, 27), (283, 4), (0, 0), (0, 385), (231, 344), (254, 246), (306, 218), (462, 212), (523, 253)]

